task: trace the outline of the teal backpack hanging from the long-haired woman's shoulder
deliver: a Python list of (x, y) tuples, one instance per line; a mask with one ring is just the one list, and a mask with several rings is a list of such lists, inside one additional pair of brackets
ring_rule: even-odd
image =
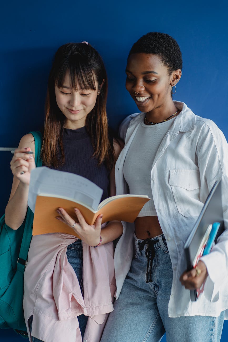
[[(42, 166), (40, 132), (30, 132), (35, 140), (36, 166)], [(23, 311), (24, 271), (32, 237), (33, 212), (28, 207), (22, 225), (15, 231), (0, 219), (0, 329), (13, 328), (27, 336)]]

